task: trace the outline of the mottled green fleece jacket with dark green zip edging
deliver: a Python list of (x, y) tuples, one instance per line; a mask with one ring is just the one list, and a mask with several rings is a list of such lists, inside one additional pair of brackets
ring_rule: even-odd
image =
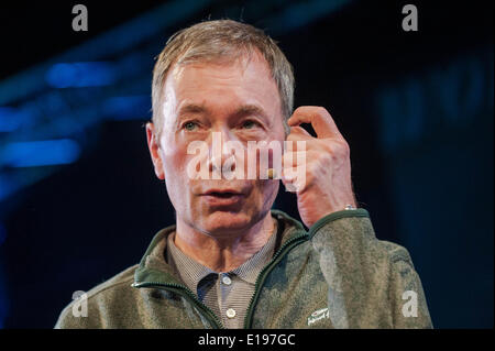
[[(377, 240), (365, 209), (333, 212), (309, 231), (272, 216), (278, 249), (257, 277), (244, 328), (432, 328), (407, 250)], [(140, 264), (70, 303), (55, 328), (223, 328), (166, 263), (174, 229), (154, 237)]]

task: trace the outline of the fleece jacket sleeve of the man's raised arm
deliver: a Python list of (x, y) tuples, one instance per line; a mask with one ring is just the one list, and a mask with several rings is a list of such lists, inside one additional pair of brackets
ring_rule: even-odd
[(377, 240), (365, 209), (328, 215), (309, 235), (336, 328), (432, 328), (407, 250)]

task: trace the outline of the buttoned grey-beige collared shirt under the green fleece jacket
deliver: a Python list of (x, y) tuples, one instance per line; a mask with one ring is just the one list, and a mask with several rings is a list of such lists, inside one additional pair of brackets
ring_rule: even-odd
[(242, 265), (230, 272), (215, 272), (196, 262), (174, 243), (175, 232), (167, 238), (167, 262), (178, 273), (185, 285), (197, 294), (229, 329), (243, 328), (244, 318), (254, 294), (256, 278), (272, 260), (277, 242), (275, 230), (266, 244)]

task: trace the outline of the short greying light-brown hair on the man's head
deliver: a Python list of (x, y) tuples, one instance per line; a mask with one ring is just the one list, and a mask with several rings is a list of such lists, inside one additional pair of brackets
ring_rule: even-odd
[(204, 21), (180, 30), (168, 39), (153, 69), (153, 122), (157, 132), (160, 133), (162, 128), (158, 106), (167, 73), (174, 64), (232, 61), (244, 56), (250, 58), (255, 51), (266, 59), (272, 78), (277, 85), (287, 132), (286, 121), (294, 107), (293, 67), (276, 42), (262, 30), (232, 20)]

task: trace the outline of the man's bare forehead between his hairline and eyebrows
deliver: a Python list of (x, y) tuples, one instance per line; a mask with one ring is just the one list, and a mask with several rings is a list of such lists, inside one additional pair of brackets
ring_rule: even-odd
[(280, 109), (276, 83), (257, 52), (251, 57), (174, 65), (164, 94), (164, 103), (174, 105), (175, 109), (182, 103), (208, 105), (212, 109), (252, 103), (268, 113)]

